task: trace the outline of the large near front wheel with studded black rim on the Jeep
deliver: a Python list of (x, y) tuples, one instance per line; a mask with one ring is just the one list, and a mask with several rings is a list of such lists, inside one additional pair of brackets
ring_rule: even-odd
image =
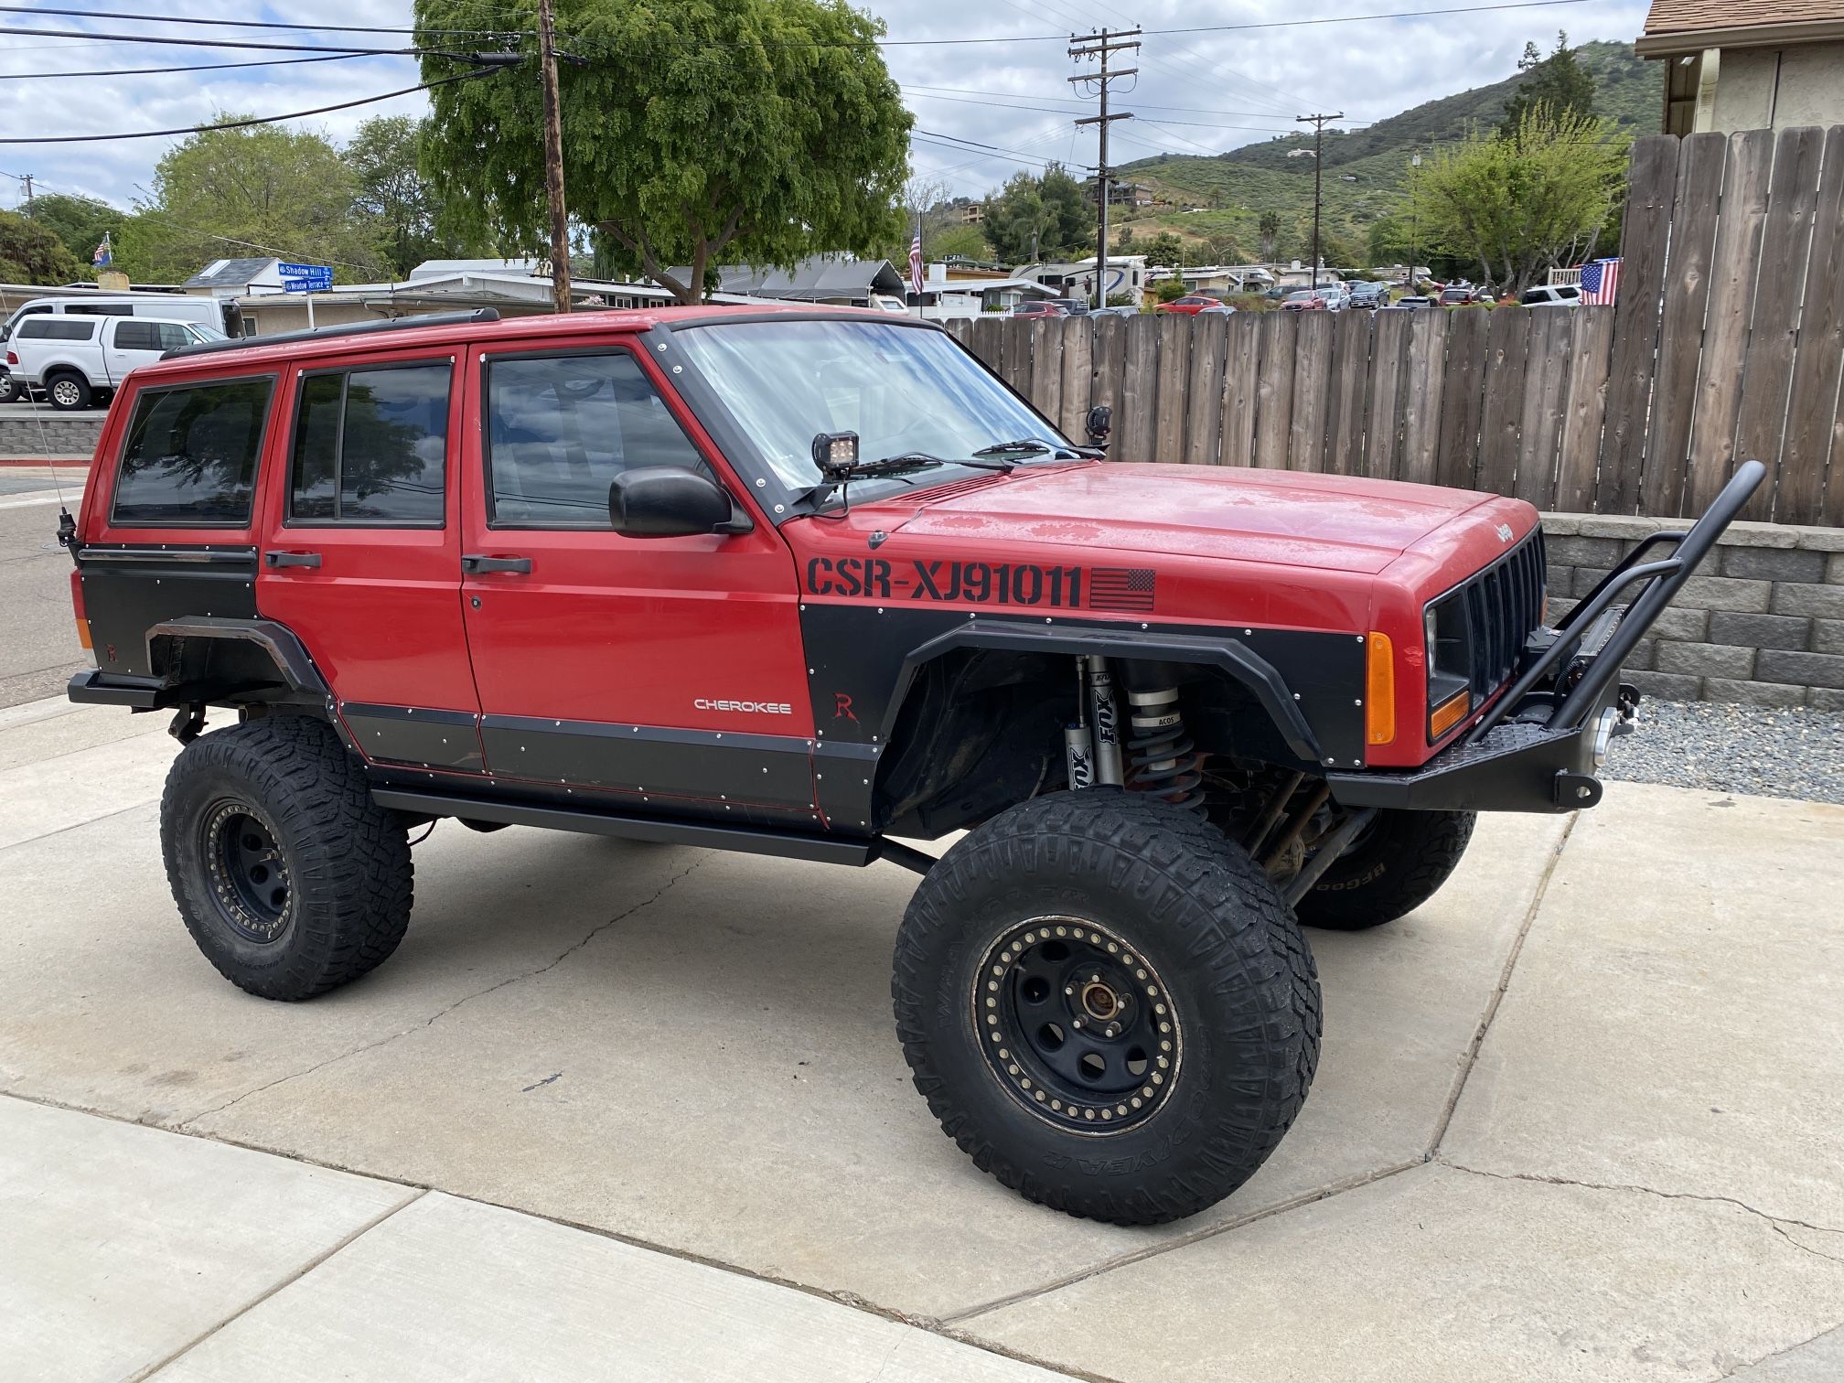
[(1267, 1160), (1318, 1062), (1318, 975), (1200, 817), (1093, 787), (1011, 808), (929, 870), (896, 1029), (942, 1130), (1055, 1210), (1158, 1224)]

